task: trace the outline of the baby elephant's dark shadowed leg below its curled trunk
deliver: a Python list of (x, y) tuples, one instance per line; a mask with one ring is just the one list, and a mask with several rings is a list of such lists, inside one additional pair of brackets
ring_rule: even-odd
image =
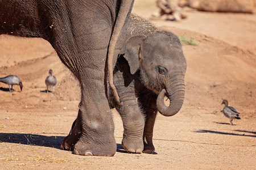
[(143, 153), (153, 154), (155, 147), (153, 145), (153, 129), (155, 124), (156, 114), (158, 110), (156, 108), (157, 96), (152, 92), (147, 92), (145, 95), (140, 95), (138, 100), (142, 105), (143, 112), (145, 114), (145, 126), (143, 132)]

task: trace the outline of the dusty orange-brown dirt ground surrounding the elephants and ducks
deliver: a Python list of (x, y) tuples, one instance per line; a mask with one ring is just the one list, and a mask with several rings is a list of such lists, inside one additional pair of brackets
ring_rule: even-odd
[[(140, 0), (133, 12), (150, 18), (156, 10), (153, 0)], [(0, 83), (0, 169), (255, 169), (256, 14), (186, 12), (181, 22), (151, 20), (199, 44), (183, 46), (184, 105), (173, 117), (156, 118), (152, 155), (122, 148), (122, 121), (115, 111), (113, 157), (61, 150), (77, 116), (76, 80), (47, 41), (0, 36), (0, 77), (18, 75), (24, 86), (10, 93)], [(43, 92), (49, 69), (57, 78), (55, 94)], [(233, 126), (220, 112), (222, 99), (241, 112)]]

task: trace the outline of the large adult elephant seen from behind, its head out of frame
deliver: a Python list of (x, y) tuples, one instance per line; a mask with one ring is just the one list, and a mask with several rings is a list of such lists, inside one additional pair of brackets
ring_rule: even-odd
[[(133, 2), (0, 1), (0, 34), (42, 37), (49, 41), (64, 65), (79, 80), (81, 102), (74, 125), (77, 128), (64, 139), (61, 148), (73, 149), (78, 155), (115, 154), (106, 72), (109, 69), (110, 86), (115, 91), (111, 70), (115, 62), (112, 63), (112, 56), (117, 56), (123, 45)], [(118, 97), (116, 99), (119, 102)]]

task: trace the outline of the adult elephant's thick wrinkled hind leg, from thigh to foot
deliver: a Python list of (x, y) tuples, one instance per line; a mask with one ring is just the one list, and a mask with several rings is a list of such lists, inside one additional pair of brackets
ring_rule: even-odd
[[(86, 10), (76, 12), (76, 14), (85, 13)], [(103, 13), (99, 12), (96, 15), (98, 15), (97, 22), (88, 26), (92, 29), (81, 27), (88, 25), (82, 22), (87, 20), (86, 17), (92, 20), (91, 16), (82, 16), (83, 20), (71, 18), (72, 28), (76, 29), (71, 29), (70, 32), (67, 29), (64, 35), (59, 35), (65, 39), (65, 34), (68, 33), (67, 40), (53, 43), (61, 61), (79, 80), (81, 88), (79, 116), (75, 123), (77, 127), (64, 139), (63, 148), (66, 148), (67, 144), (67, 148), (73, 148), (77, 155), (112, 156), (117, 145), (114, 139), (114, 122), (106, 95), (105, 76), (106, 54), (112, 27), (111, 22), (106, 22), (102, 16)], [(99, 23), (101, 23), (100, 27), (98, 27)], [(77, 131), (81, 133), (76, 135)]]

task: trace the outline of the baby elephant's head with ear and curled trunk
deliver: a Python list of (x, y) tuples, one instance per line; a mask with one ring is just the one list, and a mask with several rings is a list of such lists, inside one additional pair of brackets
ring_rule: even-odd
[[(187, 62), (179, 38), (170, 32), (156, 32), (146, 37), (130, 37), (121, 50), (127, 59), (131, 74), (140, 70), (141, 81), (158, 94), (156, 104), (164, 116), (173, 116), (183, 105), (184, 76)], [(164, 96), (170, 105), (164, 104)]]

